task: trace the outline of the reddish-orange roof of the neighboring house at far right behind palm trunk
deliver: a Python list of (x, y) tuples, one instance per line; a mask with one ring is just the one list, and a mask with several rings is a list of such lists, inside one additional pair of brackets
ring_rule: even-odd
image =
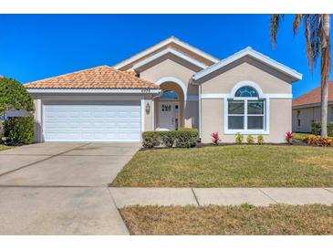
[[(320, 106), (321, 88), (313, 89), (306, 94), (293, 99), (293, 108), (310, 108)], [(333, 102), (333, 81), (328, 83), (328, 102)]]

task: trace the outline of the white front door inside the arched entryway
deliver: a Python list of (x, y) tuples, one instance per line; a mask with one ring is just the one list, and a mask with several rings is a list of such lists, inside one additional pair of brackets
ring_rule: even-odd
[(159, 130), (175, 130), (178, 128), (178, 102), (165, 101), (159, 103)]

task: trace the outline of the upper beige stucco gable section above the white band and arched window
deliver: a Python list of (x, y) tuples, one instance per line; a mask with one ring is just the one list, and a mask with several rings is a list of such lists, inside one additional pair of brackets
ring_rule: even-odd
[(291, 80), (274, 69), (244, 57), (204, 77), (201, 81), (202, 93), (230, 93), (234, 85), (241, 81), (253, 81), (264, 93), (291, 94)]

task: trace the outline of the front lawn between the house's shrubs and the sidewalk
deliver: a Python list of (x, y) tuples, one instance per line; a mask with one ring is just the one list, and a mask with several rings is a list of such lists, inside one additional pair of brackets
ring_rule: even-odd
[(111, 186), (328, 187), (333, 148), (230, 145), (139, 151)]

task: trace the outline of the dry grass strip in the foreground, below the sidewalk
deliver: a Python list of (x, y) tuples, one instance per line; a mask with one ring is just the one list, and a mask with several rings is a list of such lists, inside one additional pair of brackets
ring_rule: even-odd
[(130, 234), (333, 234), (333, 206), (130, 206)]

